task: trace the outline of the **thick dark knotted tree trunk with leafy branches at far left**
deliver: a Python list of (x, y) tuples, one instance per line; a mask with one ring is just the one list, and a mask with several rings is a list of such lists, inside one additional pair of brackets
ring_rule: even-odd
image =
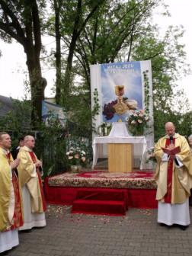
[(33, 126), (40, 122), (41, 102), (46, 88), (46, 79), (42, 77), (40, 67), (41, 18), (44, 7), (43, 0), (0, 0), (0, 37), (7, 42), (14, 39), (21, 43), (26, 53)]

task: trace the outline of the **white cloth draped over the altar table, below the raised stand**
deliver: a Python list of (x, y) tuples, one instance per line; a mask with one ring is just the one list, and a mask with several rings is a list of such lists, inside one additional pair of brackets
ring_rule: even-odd
[[(93, 141), (93, 165), (92, 168), (97, 164), (98, 162), (98, 146), (100, 144), (105, 143), (131, 143), (136, 144), (139, 146), (139, 149), (141, 149), (141, 164), (140, 169), (142, 170), (142, 162), (143, 162), (143, 155), (146, 152), (146, 137), (145, 136), (104, 136), (104, 137), (95, 137)], [(136, 151), (134, 150), (133, 155), (136, 154)]]

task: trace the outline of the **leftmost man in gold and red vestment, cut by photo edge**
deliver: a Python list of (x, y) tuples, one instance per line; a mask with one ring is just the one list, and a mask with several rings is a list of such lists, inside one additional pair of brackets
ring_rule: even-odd
[(10, 136), (0, 133), (0, 253), (19, 244), (18, 228), (23, 225), (21, 193), (14, 171), (19, 159), (13, 160), (10, 148)]

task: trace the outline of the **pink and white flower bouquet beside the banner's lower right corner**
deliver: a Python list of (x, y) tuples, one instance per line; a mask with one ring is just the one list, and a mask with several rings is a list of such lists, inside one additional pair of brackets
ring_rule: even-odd
[(128, 118), (128, 129), (133, 136), (142, 136), (147, 126), (149, 116), (144, 110), (132, 110)]

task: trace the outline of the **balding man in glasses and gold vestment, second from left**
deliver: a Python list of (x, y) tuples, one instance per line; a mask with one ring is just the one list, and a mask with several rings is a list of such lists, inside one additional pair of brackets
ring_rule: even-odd
[(24, 146), (18, 153), (18, 177), (22, 187), (24, 205), (24, 226), (19, 230), (30, 230), (34, 227), (46, 226), (46, 203), (43, 195), (43, 186), (40, 177), (42, 164), (33, 149), (33, 136), (24, 137)]

